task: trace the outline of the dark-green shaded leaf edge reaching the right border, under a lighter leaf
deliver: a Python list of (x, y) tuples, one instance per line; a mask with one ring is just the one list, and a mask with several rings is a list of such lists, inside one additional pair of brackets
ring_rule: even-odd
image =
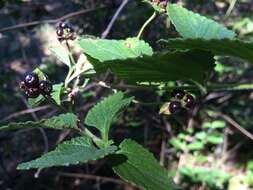
[(253, 63), (253, 42), (244, 42), (241, 40), (204, 40), (204, 39), (170, 39), (161, 41), (169, 49), (197, 49), (211, 51), (216, 55), (228, 55), (239, 57), (250, 63)]

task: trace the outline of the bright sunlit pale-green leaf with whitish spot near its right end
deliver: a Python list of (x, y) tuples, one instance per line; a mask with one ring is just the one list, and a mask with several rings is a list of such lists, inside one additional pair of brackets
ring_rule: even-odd
[(81, 39), (78, 44), (85, 54), (101, 62), (153, 54), (149, 44), (137, 38), (126, 40)]

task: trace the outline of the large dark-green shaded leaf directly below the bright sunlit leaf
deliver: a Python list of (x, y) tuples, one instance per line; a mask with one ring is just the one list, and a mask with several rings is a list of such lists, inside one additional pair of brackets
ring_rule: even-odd
[(89, 58), (97, 73), (110, 69), (119, 78), (130, 82), (168, 82), (194, 80), (203, 82), (214, 68), (213, 54), (205, 51), (157, 53), (126, 60), (99, 62)]

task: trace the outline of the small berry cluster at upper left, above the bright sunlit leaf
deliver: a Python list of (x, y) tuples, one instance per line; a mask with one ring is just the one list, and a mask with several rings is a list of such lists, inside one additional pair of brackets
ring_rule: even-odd
[(57, 38), (60, 42), (67, 40), (75, 40), (76, 34), (74, 28), (65, 22), (60, 22), (56, 29)]

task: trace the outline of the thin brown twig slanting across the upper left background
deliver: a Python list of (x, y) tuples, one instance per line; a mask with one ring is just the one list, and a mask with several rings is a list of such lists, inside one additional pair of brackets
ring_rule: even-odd
[(34, 25), (44, 24), (44, 23), (57, 23), (59, 21), (66, 20), (71, 17), (75, 17), (75, 16), (78, 16), (81, 14), (90, 13), (90, 12), (96, 11), (98, 9), (103, 9), (103, 8), (105, 8), (105, 7), (103, 6), (103, 7), (97, 7), (97, 8), (92, 8), (92, 9), (82, 9), (80, 11), (72, 12), (72, 13), (69, 13), (69, 14), (64, 15), (62, 17), (56, 18), (56, 19), (48, 19), (48, 20), (42, 20), (42, 21), (38, 20), (38, 21), (32, 21), (32, 22), (28, 22), (28, 23), (17, 24), (14, 26), (1, 28), (0, 32), (6, 32), (6, 31), (10, 31), (10, 30), (15, 30), (15, 29), (19, 29), (19, 28), (24, 28), (24, 27), (34, 26)]

